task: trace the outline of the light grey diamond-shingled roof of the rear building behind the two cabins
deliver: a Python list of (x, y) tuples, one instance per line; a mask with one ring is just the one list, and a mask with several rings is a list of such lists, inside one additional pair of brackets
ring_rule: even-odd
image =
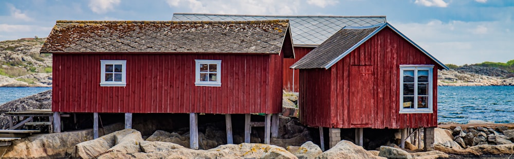
[(258, 21), (289, 19), (295, 46), (316, 47), (344, 26), (371, 26), (386, 23), (386, 16), (286, 16), (174, 13), (172, 21)]

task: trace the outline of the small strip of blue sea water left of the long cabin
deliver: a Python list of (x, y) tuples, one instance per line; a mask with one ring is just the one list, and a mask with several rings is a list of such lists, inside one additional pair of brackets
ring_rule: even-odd
[(0, 87), (0, 105), (17, 98), (38, 94), (51, 87)]

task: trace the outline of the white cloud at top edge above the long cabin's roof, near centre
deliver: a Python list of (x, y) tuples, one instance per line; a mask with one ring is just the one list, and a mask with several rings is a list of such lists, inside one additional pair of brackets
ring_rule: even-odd
[[(330, 1), (330, 0), (329, 0)], [(295, 14), (300, 3), (297, 0), (167, 0), (170, 7), (189, 8), (196, 13), (218, 14)]]

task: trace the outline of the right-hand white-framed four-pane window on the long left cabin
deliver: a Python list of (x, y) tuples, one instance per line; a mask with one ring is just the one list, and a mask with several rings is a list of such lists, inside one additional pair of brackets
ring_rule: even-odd
[(195, 59), (195, 86), (222, 86), (222, 61)]

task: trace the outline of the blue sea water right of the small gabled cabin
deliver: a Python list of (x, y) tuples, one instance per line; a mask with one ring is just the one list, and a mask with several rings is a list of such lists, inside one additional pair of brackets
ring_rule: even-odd
[(512, 86), (439, 86), (438, 122), (514, 123)]

